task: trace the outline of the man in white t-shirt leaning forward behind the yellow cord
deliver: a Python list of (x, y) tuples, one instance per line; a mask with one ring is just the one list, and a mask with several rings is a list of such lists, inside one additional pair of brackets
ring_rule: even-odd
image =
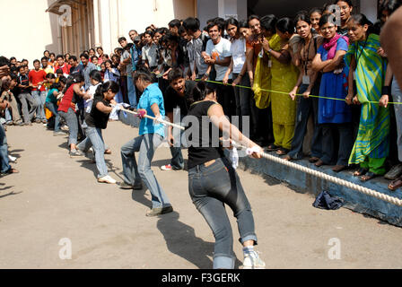
[[(221, 29), (218, 23), (212, 22), (207, 27), (211, 39), (206, 43), (205, 63), (208, 69), (202, 80), (207, 80), (212, 67), (216, 71), (216, 82), (223, 83), (223, 77), (226, 74), (232, 61), (231, 42), (221, 36)], [(234, 91), (232, 87), (232, 73), (229, 75), (230, 85), (217, 84), (216, 94), (219, 103), (223, 107), (224, 114), (228, 117), (234, 115)]]

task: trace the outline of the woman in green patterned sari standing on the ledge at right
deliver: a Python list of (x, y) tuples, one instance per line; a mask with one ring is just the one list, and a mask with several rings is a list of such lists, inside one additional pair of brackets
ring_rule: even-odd
[(345, 56), (350, 64), (346, 103), (362, 105), (359, 131), (349, 164), (360, 164), (354, 176), (366, 181), (385, 173), (384, 163), (389, 154), (389, 109), (372, 103), (382, 97), (387, 60), (377, 54), (380, 36), (373, 32), (372, 23), (366, 16), (351, 16), (347, 26), (352, 44)]

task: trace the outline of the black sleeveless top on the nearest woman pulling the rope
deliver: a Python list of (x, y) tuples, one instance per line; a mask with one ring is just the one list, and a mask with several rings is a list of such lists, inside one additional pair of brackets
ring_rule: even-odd
[[(215, 104), (212, 100), (198, 101), (188, 110), (188, 116), (193, 117), (184, 118), (184, 125), (187, 126), (186, 138), (189, 141), (188, 170), (224, 156), (222, 147), (219, 147), (219, 137), (222, 133), (208, 117), (208, 109)], [(191, 118), (197, 118), (197, 122), (192, 123)]]

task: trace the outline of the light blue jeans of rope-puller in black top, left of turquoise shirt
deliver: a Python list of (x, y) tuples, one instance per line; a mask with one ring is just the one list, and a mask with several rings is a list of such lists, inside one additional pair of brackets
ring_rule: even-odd
[(105, 143), (102, 137), (100, 128), (88, 126), (85, 130), (86, 138), (83, 142), (77, 145), (77, 149), (83, 152), (88, 152), (92, 147), (95, 153), (96, 168), (98, 169), (98, 178), (103, 178), (108, 175), (108, 167), (105, 162)]

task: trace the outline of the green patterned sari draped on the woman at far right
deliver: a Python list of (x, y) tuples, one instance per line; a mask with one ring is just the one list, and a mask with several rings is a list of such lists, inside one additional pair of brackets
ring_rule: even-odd
[(367, 40), (351, 44), (345, 55), (348, 64), (352, 55), (356, 60), (357, 98), (362, 103), (359, 132), (349, 164), (385, 160), (389, 154), (389, 109), (370, 102), (380, 100), (387, 70), (387, 60), (377, 54), (378, 48), (380, 36), (370, 34)]

